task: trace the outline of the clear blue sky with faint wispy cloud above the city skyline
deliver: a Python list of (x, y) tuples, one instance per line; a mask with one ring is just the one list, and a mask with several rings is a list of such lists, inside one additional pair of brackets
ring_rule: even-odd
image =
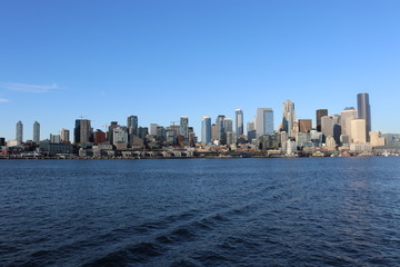
[[(244, 121), (296, 103), (312, 118), (369, 92), (372, 129), (400, 132), (400, 1), (0, 2), (0, 137), (24, 123), (32, 139), (88, 116), (168, 126), (200, 136), (202, 116)], [(102, 128), (103, 129), (103, 128)]]

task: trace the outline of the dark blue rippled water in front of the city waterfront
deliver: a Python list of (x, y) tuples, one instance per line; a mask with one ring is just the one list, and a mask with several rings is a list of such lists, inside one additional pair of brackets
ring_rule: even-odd
[(0, 160), (0, 266), (400, 266), (399, 166)]

